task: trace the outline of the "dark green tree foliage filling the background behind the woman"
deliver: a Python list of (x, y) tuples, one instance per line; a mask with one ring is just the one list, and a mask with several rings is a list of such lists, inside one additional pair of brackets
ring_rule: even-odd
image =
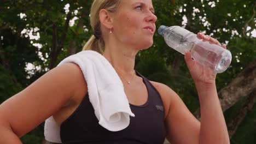
[[(255, 29), (255, 16), (252, 17), (254, 1), (182, 0), (176, 1), (175, 4), (172, 2), (153, 0), (156, 16), (158, 16), (156, 28), (160, 25), (183, 26), (194, 33), (210, 34), (220, 43), (228, 43), (227, 47), (233, 58), (230, 68), (217, 76), (218, 90), (228, 85), (249, 62), (256, 58), (256, 40), (249, 34)], [(68, 26), (66, 39), (63, 41), (62, 51), (57, 56), (55, 65), (69, 55), (69, 47), (73, 41), (77, 46), (77, 52), (82, 50), (92, 34), (89, 21), (92, 0), (25, 0), (1, 1), (0, 3), (0, 103), (2, 103), (49, 70), (49, 55), (53, 49), (53, 27), (56, 26), (57, 44), (60, 44), (68, 14), (68, 11), (63, 9), (66, 4), (69, 4), (71, 19), (77, 17), (78, 20), (74, 21), (73, 26)], [(22, 19), (21, 13), (26, 14)], [(83, 15), (85, 16), (82, 19)], [(182, 22), (184, 17), (187, 18), (187, 23)], [(253, 20), (249, 21), (251, 18)], [(79, 19), (83, 20), (83, 28), (78, 27)], [(247, 30), (247, 26), (251, 27), (251, 30)], [(24, 32), (24, 29), (27, 29), (27, 32)], [(28, 33), (30, 32), (33, 35), (37, 35), (38, 32), (40, 38), (29, 39)], [(42, 44), (42, 47), (34, 46), (33, 44), (36, 43)], [(39, 56), (39, 53), (42, 55)], [(32, 63), (40, 69), (33, 68), (26, 71), (27, 63)], [(158, 33), (154, 35), (153, 46), (138, 53), (135, 69), (149, 80), (171, 87), (179, 94), (191, 112), (199, 107), (194, 82), (183, 55), (168, 47)], [(240, 103), (241, 101), (225, 113), (226, 119), (230, 120), (234, 117), (233, 113), (239, 109)], [(254, 116), (255, 106), (245, 122), (238, 128), (232, 143), (245, 143), (242, 142), (243, 139), (247, 139), (247, 143), (255, 142)], [(24, 143), (41, 143), (42, 130), (42, 125), (40, 125), (21, 140)]]

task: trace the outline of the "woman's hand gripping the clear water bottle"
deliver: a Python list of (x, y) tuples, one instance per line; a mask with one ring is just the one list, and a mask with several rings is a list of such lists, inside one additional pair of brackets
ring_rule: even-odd
[[(214, 39), (209, 35), (197, 33), (197, 37), (210, 41), (210, 43), (222, 46), (224, 49), (226, 49), (225, 44), (221, 45), (217, 39)], [(210, 68), (203, 67), (200, 63), (194, 61), (191, 58), (191, 52), (185, 53), (185, 62), (187, 63), (188, 69), (195, 83), (199, 82), (202, 84), (215, 84), (216, 73)]]

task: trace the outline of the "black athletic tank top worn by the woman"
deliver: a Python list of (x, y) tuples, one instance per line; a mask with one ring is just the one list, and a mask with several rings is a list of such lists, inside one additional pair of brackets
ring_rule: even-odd
[(120, 131), (109, 131), (98, 124), (88, 94), (78, 108), (61, 124), (60, 136), (65, 144), (162, 144), (165, 140), (164, 106), (156, 88), (144, 76), (148, 90), (148, 100), (143, 105), (130, 104), (135, 117), (130, 117), (130, 124)]

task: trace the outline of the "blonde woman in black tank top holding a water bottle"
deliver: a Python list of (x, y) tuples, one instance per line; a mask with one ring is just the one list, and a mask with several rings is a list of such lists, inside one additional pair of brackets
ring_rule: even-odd
[(162, 143), (165, 136), (171, 143), (229, 143), (216, 73), (193, 61), (190, 52), (185, 61), (199, 95), (201, 122), (171, 88), (134, 70), (136, 53), (153, 44), (157, 18), (152, 0), (95, 0), (90, 16), (95, 34), (84, 49), (102, 53), (120, 76), (136, 115), (129, 127), (113, 132), (98, 125), (82, 71), (66, 63), (0, 105), (0, 143), (21, 143), (19, 137), (51, 115), (61, 127), (63, 143)]

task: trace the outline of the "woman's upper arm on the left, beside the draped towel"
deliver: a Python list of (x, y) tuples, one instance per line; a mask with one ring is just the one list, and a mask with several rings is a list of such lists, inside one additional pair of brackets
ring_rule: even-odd
[(0, 105), (0, 124), (22, 136), (70, 101), (79, 85), (86, 84), (78, 65), (60, 65), (4, 101)]

